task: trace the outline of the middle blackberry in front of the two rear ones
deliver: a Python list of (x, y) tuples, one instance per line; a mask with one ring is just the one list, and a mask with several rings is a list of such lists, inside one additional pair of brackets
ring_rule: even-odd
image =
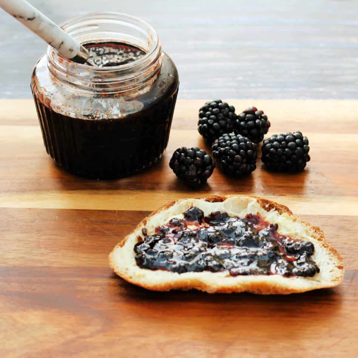
[(256, 169), (257, 146), (242, 135), (224, 134), (214, 142), (212, 149), (225, 174), (240, 177)]

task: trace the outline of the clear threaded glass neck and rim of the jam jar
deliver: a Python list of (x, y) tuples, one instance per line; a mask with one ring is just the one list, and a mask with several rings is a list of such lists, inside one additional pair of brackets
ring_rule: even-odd
[(130, 63), (96, 67), (71, 61), (49, 46), (49, 71), (66, 85), (90, 92), (126, 92), (143, 87), (160, 70), (162, 52), (158, 34), (150, 24), (135, 16), (116, 12), (88, 13), (64, 21), (60, 27), (83, 44), (123, 42), (145, 51), (143, 57)]

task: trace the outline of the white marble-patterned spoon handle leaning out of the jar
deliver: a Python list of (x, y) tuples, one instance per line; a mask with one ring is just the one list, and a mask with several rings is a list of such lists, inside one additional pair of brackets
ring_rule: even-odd
[(64, 57), (79, 63), (87, 61), (87, 49), (27, 1), (0, 0), (0, 8), (45, 40)]

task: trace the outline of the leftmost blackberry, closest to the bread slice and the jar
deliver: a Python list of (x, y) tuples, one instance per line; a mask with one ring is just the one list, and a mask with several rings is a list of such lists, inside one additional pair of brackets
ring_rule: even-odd
[(215, 163), (203, 149), (182, 147), (173, 153), (169, 166), (189, 187), (198, 187), (213, 174)]

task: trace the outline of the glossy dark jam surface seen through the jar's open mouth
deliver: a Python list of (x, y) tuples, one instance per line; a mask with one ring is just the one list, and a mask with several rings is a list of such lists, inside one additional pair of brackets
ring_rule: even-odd
[(141, 49), (124, 43), (88, 43), (84, 47), (89, 52), (87, 62), (96, 67), (120, 66), (134, 62), (145, 55)]

